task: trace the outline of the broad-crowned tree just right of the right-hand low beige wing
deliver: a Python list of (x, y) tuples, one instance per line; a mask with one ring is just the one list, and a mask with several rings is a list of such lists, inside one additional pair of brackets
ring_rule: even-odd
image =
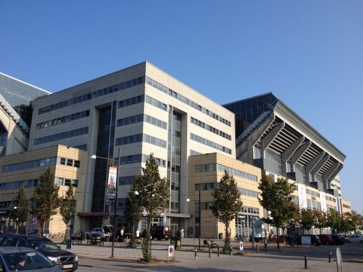
[(261, 190), (258, 202), (271, 214), (267, 218), (262, 218), (267, 224), (277, 229), (277, 248), (279, 243), (279, 228), (288, 225), (298, 211), (297, 205), (292, 202), (292, 192), (294, 189), (288, 183), (288, 179), (279, 178), (274, 182), (269, 176), (262, 177), (258, 189)]

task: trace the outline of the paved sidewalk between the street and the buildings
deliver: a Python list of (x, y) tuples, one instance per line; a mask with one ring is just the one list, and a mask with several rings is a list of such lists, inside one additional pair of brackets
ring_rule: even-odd
[[(55, 243), (60, 243), (61, 241), (54, 241)], [(214, 240), (220, 248), (223, 248), (223, 241)], [(158, 260), (167, 261), (168, 260), (168, 245), (170, 241), (152, 241), (151, 247), (151, 255)], [(61, 249), (66, 249), (66, 245), (59, 244)], [(177, 262), (190, 262), (191, 260), (195, 260), (195, 248), (198, 248), (199, 241), (198, 239), (182, 239), (182, 248), (181, 250), (175, 250), (174, 259)], [(239, 253), (239, 243), (232, 241), (231, 245), (233, 247), (233, 251), (236, 254)], [(263, 243), (255, 243), (254, 248), (252, 248), (252, 243), (244, 243), (244, 253), (249, 255), (255, 255), (256, 253), (256, 245), (259, 248), (259, 254), (262, 255), (265, 253), (265, 247)], [(201, 241), (202, 246), (202, 241)], [(274, 255), (305, 255), (309, 256), (313, 255), (316, 258), (325, 258), (327, 257), (327, 253), (332, 251), (332, 259), (335, 259), (335, 251), (336, 246), (325, 247), (321, 245), (320, 247), (313, 247), (311, 245), (304, 245), (295, 248), (291, 248), (290, 246), (280, 243), (280, 248), (277, 248), (276, 243), (267, 244), (267, 253)], [(87, 257), (92, 259), (110, 259), (112, 252), (112, 243), (105, 242), (105, 245), (85, 245), (85, 241), (83, 245), (72, 245), (71, 252), (74, 252), (79, 257)], [(346, 246), (344, 250), (342, 250), (343, 260), (350, 260), (353, 262), (363, 262), (363, 247), (362, 250), (350, 250), (349, 246)], [(220, 254), (220, 257), (226, 257), (229, 255)], [(216, 253), (211, 253), (210, 258), (218, 258)], [(199, 260), (208, 260), (209, 252), (205, 250), (205, 252), (197, 252), (197, 259)], [(120, 243), (114, 243), (114, 259), (123, 261), (123, 262), (138, 262), (142, 259), (142, 250), (141, 248), (125, 248), (121, 247)], [(170, 260), (172, 257), (170, 257)]]

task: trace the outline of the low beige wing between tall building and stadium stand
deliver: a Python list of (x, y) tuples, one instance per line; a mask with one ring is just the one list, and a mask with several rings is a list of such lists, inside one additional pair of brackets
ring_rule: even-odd
[[(194, 236), (195, 232), (198, 232), (199, 190), (202, 207), (201, 237), (216, 239), (218, 234), (222, 233), (224, 235), (224, 225), (216, 220), (209, 209), (210, 204), (213, 202), (212, 188), (221, 180), (224, 169), (233, 174), (235, 181), (237, 181), (239, 191), (242, 192), (241, 199), (244, 205), (244, 210), (239, 214), (239, 218), (244, 219), (239, 220), (237, 218), (239, 223), (236, 223), (235, 220), (230, 222), (232, 236), (234, 237), (237, 233), (249, 236), (251, 234), (252, 218), (263, 217), (263, 209), (258, 202), (260, 192), (258, 182), (261, 179), (261, 170), (258, 167), (218, 153), (190, 156), (188, 197), (191, 201), (188, 202), (188, 211), (191, 218), (188, 222), (188, 236)], [(246, 178), (247, 174), (249, 179)], [(213, 183), (214, 185), (212, 185)], [(195, 223), (196, 219), (197, 223)]]

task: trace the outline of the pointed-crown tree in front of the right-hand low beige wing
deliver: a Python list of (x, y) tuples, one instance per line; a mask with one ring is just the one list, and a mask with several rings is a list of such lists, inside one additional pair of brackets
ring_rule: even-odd
[(225, 239), (223, 250), (230, 250), (230, 221), (235, 219), (236, 213), (242, 209), (241, 193), (233, 175), (224, 171), (224, 175), (212, 192), (212, 213), (219, 222), (225, 226)]

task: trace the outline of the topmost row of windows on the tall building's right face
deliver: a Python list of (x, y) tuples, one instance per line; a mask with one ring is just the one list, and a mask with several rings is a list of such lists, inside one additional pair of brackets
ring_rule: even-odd
[(155, 80), (152, 80), (150, 77), (147, 77), (146, 80), (147, 84), (153, 86), (154, 88), (163, 91), (163, 93), (167, 93), (169, 96), (172, 96), (173, 98), (176, 98), (177, 100), (182, 101), (182, 103), (185, 103), (188, 106), (193, 107), (194, 109), (198, 109), (200, 112), (203, 112), (207, 114), (208, 116), (220, 121), (221, 123), (224, 123), (227, 126), (230, 126), (230, 121), (222, 118), (221, 116), (218, 116), (218, 114), (215, 114), (214, 112), (210, 111), (209, 109), (206, 109), (205, 107), (202, 107), (198, 103), (195, 103), (192, 100), (189, 100), (185, 96), (182, 96), (180, 93), (177, 93), (176, 91), (172, 91), (168, 87), (164, 86), (163, 84), (160, 84), (156, 82)]

